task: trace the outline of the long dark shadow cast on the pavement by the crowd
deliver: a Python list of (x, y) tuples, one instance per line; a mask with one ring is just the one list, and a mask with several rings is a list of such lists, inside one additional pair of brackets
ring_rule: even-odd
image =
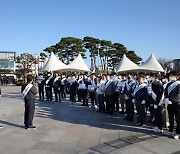
[(62, 103), (39, 101), (36, 102), (35, 116), (97, 128), (152, 134), (152, 129), (140, 128), (135, 126), (135, 122), (125, 121), (122, 114), (108, 115), (80, 105), (72, 105), (69, 101)]

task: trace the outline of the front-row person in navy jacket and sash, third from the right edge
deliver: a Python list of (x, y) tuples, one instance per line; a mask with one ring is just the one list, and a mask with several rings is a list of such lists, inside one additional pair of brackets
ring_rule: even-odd
[(144, 74), (138, 75), (138, 84), (134, 89), (134, 100), (138, 114), (138, 126), (145, 127), (146, 125), (146, 99), (148, 96), (147, 84), (144, 83)]

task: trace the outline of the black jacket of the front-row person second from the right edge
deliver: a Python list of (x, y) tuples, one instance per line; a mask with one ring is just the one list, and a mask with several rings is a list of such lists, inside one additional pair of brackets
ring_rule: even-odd
[(160, 103), (162, 95), (164, 93), (164, 87), (163, 87), (162, 83), (161, 82), (153, 82), (152, 83), (152, 92), (154, 92), (156, 95), (155, 100), (153, 99), (153, 96), (152, 96), (152, 102), (155, 105), (158, 105)]

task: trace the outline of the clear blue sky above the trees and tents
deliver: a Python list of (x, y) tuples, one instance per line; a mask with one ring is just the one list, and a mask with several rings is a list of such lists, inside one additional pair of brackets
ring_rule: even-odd
[(180, 58), (180, 0), (1, 0), (0, 50), (40, 53), (62, 37), (124, 44), (146, 60)]

